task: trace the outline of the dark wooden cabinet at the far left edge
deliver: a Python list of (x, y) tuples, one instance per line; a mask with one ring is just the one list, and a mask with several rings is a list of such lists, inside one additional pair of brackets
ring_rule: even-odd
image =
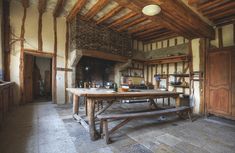
[(0, 127), (14, 104), (14, 82), (0, 81)]

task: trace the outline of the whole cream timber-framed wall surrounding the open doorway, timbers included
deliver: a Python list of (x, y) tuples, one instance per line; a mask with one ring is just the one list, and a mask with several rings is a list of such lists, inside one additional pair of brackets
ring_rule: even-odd
[[(68, 62), (69, 26), (68, 23), (66, 22), (66, 18), (59, 17), (58, 12), (56, 12), (57, 10), (59, 10), (59, 8), (56, 9), (55, 12), (46, 12), (45, 11), (46, 1), (43, 1), (43, 3), (39, 3), (38, 7), (35, 7), (34, 5), (29, 6), (29, 3), (27, 3), (27, 1), (22, 1), (21, 3), (15, 0), (12, 0), (10, 2), (4, 0), (4, 5), (9, 6), (9, 7), (4, 7), (5, 9), (8, 8), (9, 14), (5, 15), (4, 16), (5, 18), (3, 20), (4, 21), (9, 20), (9, 22), (3, 22), (3, 23), (5, 24), (11, 23), (11, 25), (8, 26), (6, 25), (6, 26), (11, 27), (12, 29), (12, 30), (9, 29), (9, 31), (6, 31), (6, 29), (4, 29), (4, 34), (11, 35), (11, 37), (9, 36), (11, 38), (9, 42), (11, 43), (6, 42), (6, 44), (9, 44), (10, 49), (7, 49), (6, 45), (4, 46), (4, 52), (6, 52), (6, 50), (10, 50), (9, 54), (5, 54), (4, 58), (8, 59), (6, 57), (9, 57), (9, 60), (5, 60), (6, 63), (4, 63), (5, 70), (9, 69), (9, 73), (7, 73), (7, 71), (5, 73), (5, 78), (9, 79), (11, 78), (11, 81), (14, 81), (17, 84), (16, 85), (17, 89), (15, 91), (16, 92), (15, 100), (17, 101), (17, 103), (20, 104), (25, 103), (24, 102), (25, 88), (24, 88), (23, 78), (24, 78), (24, 54), (27, 53), (33, 56), (42, 56), (42, 57), (48, 55), (50, 57), (53, 56), (52, 57), (53, 102), (55, 103), (58, 103), (58, 101), (59, 103), (68, 102), (67, 101), (68, 95), (66, 94), (65, 88), (70, 86), (69, 84), (70, 81), (68, 80), (70, 80), (69, 72), (71, 69), (69, 67), (69, 62)], [(7, 13), (7, 11), (4, 11), (4, 13)], [(32, 23), (29, 22), (29, 19), (31, 20), (32, 16), (34, 20), (35, 16), (38, 17), (35, 20), (36, 23), (34, 21), (32, 21)], [(12, 20), (11, 22), (10, 19)], [(16, 22), (17, 20), (18, 22)], [(45, 25), (47, 23), (49, 24)], [(35, 27), (34, 24), (38, 26), (37, 27), (38, 30), (36, 33), (32, 31), (33, 27)], [(60, 31), (57, 31), (58, 28), (60, 29)], [(49, 36), (48, 36), (49, 33), (48, 31), (50, 32)], [(32, 34), (29, 35), (29, 33)], [(4, 40), (8, 40), (6, 39), (6, 36), (4, 37)], [(54, 43), (51, 40), (53, 40)], [(14, 61), (11, 61), (12, 58), (14, 58)], [(17, 64), (18, 60), (20, 64), (12, 66), (13, 63)], [(18, 71), (19, 75), (13, 74)], [(58, 75), (60, 75), (60, 78), (62, 77), (63, 82), (56, 79)], [(19, 78), (17, 78), (17, 76), (19, 76)], [(58, 83), (60, 89), (57, 89)], [(64, 94), (57, 93), (58, 91), (61, 92), (61, 90), (63, 90)]]

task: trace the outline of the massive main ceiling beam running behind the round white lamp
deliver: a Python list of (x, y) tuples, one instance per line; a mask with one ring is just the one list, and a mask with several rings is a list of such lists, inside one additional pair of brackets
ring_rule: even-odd
[[(201, 37), (214, 38), (214, 30), (211, 26), (203, 22), (191, 9), (184, 6), (179, 0), (115, 0), (119, 5), (126, 6), (132, 11), (142, 14), (142, 8), (148, 4), (160, 4), (162, 12), (156, 16), (148, 17), (153, 22), (161, 24), (163, 27), (174, 31), (175, 33), (182, 35), (186, 38), (198, 37), (198, 33)], [(165, 15), (167, 12), (172, 16)], [(176, 14), (177, 13), (177, 14)], [(175, 23), (174, 16), (178, 15), (182, 18), (184, 23), (189, 22), (191, 26), (186, 26), (184, 23), (180, 25)], [(172, 24), (174, 23), (174, 24)], [(192, 26), (193, 25), (193, 26)], [(194, 29), (197, 29), (194, 30)]]

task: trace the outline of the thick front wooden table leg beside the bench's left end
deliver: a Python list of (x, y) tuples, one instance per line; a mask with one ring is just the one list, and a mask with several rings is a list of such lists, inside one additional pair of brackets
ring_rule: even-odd
[(89, 133), (92, 141), (98, 139), (98, 133), (95, 128), (95, 101), (87, 98), (87, 114), (89, 122)]

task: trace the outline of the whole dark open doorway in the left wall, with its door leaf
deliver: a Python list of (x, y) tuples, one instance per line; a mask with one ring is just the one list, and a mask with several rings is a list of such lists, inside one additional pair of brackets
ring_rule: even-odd
[(24, 89), (26, 103), (52, 100), (52, 58), (25, 54)]

